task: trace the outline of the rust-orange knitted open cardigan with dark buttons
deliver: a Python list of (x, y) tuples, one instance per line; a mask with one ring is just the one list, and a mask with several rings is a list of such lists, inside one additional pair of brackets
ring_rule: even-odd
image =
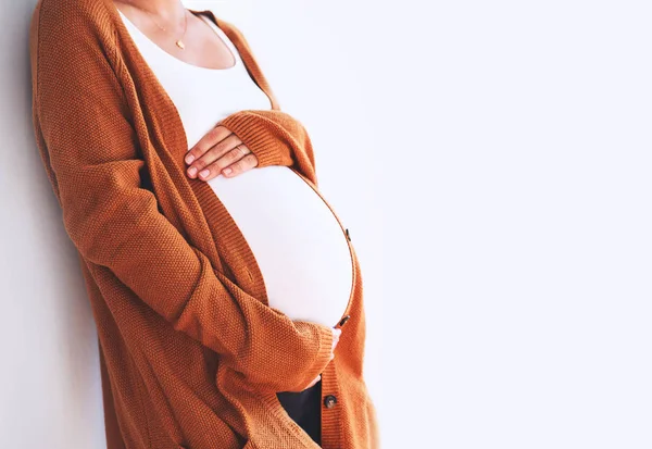
[[(260, 166), (289, 166), (316, 188), (310, 138), (241, 33), (192, 11), (228, 35), (272, 100), (222, 123)], [(29, 30), (34, 130), (92, 304), (108, 449), (316, 448), (276, 391), (319, 373), (322, 447), (379, 447), (358, 258), (330, 361), (331, 330), (268, 307), (242, 234), (186, 175), (180, 117), (117, 14), (112, 0), (39, 0)]]

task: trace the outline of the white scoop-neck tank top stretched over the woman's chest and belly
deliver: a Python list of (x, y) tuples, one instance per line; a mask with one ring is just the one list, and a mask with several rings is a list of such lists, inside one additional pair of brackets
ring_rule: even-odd
[[(206, 68), (167, 53), (120, 10), (143, 59), (177, 108), (189, 148), (227, 115), (271, 110), (238, 50), (209, 17), (199, 15), (235, 57), (228, 68)], [(335, 326), (352, 292), (347, 236), (312, 186), (286, 166), (256, 167), (208, 182), (242, 232), (261, 269), (269, 305), (292, 320)]]

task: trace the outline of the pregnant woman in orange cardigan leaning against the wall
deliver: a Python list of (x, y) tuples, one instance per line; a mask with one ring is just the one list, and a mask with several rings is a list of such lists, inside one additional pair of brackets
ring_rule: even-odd
[(108, 449), (378, 447), (350, 233), (241, 33), (179, 0), (40, 0), (29, 43)]

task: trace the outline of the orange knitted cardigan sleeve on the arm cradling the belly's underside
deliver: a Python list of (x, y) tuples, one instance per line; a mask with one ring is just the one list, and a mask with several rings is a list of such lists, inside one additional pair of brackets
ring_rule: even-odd
[(160, 213), (141, 187), (145, 161), (106, 30), (89, 25), (84, 11), (66, 12), (41, 0), (30, 33), (34, 125), (80, 255), (254, 387), (303, 389), (330, 361), (331, 328), (292, 321), (246, 294)]

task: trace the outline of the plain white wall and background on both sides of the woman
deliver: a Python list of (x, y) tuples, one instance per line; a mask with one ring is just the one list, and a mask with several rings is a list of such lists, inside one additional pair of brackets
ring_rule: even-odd
[[(34, 2), (0, 4), (0, 438), (101, 448), (28, 122)], [(652, 447), (647, 2), (187, 4), (241, 27), (313, 136), (361, 255), (385, 449)]]

